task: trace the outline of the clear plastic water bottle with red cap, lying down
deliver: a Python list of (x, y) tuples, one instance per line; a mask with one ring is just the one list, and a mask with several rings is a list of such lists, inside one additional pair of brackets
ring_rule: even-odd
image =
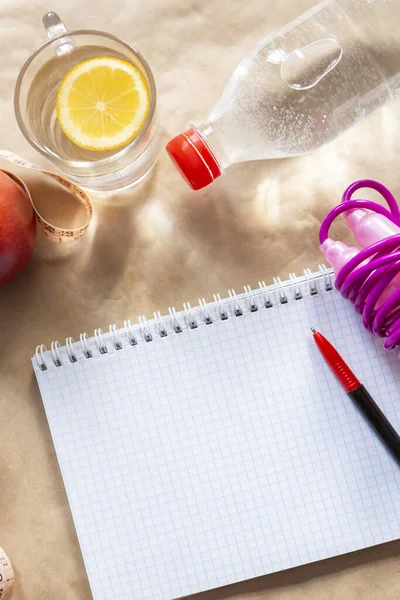
[(235, 163), (318, 148), (398, 93), (399, 32), (399, 0), (321, 2), (262, 39), (168, 153), (200, 189)]

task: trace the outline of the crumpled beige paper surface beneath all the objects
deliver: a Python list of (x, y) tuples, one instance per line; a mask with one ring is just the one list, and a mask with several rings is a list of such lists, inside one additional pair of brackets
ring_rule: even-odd
[[(244, 53), (313, 0), (3, 0), (1, 146), (43, 166), (18, 132), (17, 73), (53, 9), (68, 27), (106, 29), (150, 62), (165, 141), (201, 122)], [(399, 7), (400, 10), (400, 7)], [(0, 544), (16, 571), (14, 600), (91, 598), (30, 356), (38, 343), (121, 324), (321, 260), (321, 218), (352, 180), (382, 180), (400, 198), (397, 102), (312, 156), (237, 166), (200, 193), (163, 153), (135, 191), (94, 198), (88, 235), (70, 246), (39, 236), (27, 270), (0, 290)], [(204, 594), (203, 600), (400, 596), (400, 543)]]

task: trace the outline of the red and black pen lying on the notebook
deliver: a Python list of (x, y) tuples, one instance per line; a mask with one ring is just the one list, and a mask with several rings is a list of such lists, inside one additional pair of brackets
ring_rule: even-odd
[(336, 379), (341, 383), (347, 395), (353, 400), (382, 442), (400, 463), (400, 436), (365, 387), (359, 382), (339, 352), (315, 329), (311, 328), (314, 341)]

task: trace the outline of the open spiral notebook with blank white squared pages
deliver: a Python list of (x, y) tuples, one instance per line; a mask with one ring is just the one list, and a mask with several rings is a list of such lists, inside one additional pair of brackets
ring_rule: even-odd
[(310, 325), (400, 429), (399, 361), (324, 268), (38, 347), (95, 600), (172, 600), (400, 537), (400, 470)]

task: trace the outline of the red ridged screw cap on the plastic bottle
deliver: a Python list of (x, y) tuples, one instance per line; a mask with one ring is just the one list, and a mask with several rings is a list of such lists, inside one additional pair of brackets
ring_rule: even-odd
[(221, 167), (200, 133), (190, 128), (166, 146), (172, 162), (193, 190), (200, 190), (221, 175)]

